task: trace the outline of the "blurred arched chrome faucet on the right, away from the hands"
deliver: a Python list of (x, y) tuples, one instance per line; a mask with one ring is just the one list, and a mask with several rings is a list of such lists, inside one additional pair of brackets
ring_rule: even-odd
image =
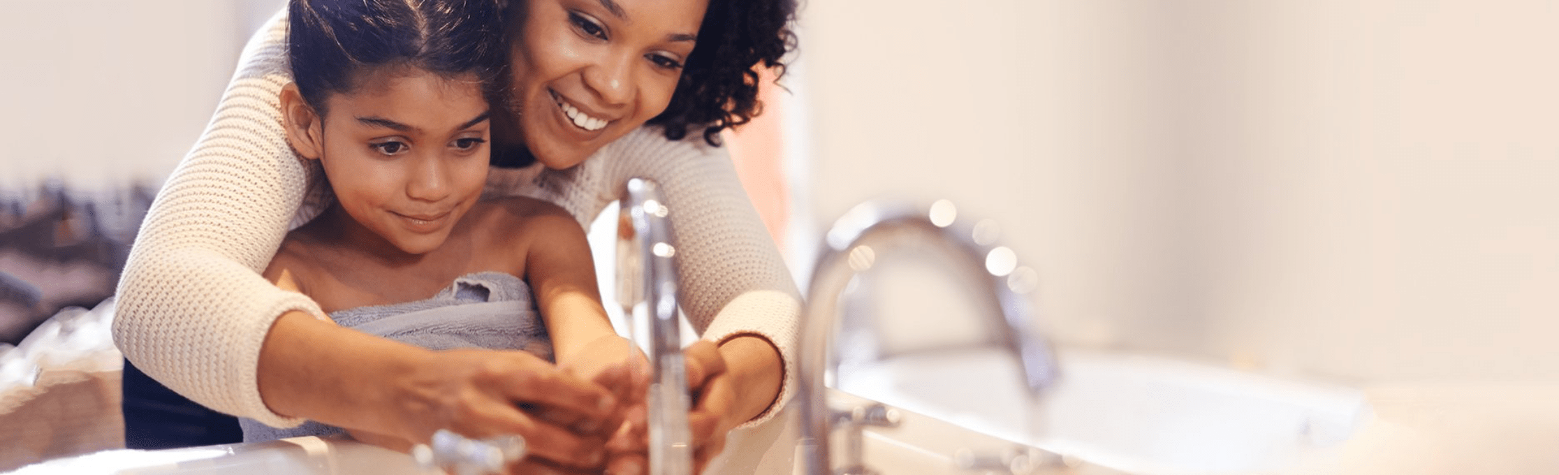
[[(914, 238), (951, 251), (957, 262), (968, 263), (968, 276), (977, 276), (973, 279), (973, 285), (985, 290), (985, 294), (995, 299), (995, 308), (998, 308), (995, 316), (1006, 330), (1001, 344), (1018, 358), (1024, 386), (1032, 397), (1040, 397), (1060, 374), (1049, 341), (1035, 335), (1029, 327), (1032, 310), (1021, 296), (1021, 291), (1027, 291), (1023, 288), (1027, 283), (1018, 280), (1032, 279), (1032, 276), (1013, 274), (1010, 265), (1001, 263), (1004, 259), (1015, 262), (1010, 249), (977, 243), (974, 229), (959, 223), (957, 210), (946, 201), (931, 206), (929, 212), (907, 204), (864, 202), (834, 221), (834, 227), (825, 235), (806, 294), (806, 311), (801, 318), (798, 343), (800, 361), (797, 364), (801, 411), (798, 444), (801, 445), (800, 456), (806, 469), (804, 473), (834, 475), (829, 458), (829, 435), (834, 422), (861, 424), (859, 417), (836, 414), (826, 402), (823, 378), (828, 371), (828, 355), (833, 352), (839, 296), (850, 280), (857, 273), (871, 268), (871, 263), (884, 255), (884, 251), (890, 251), (895, 245), (903, 246)], [(867, 424), (873, 422), (867, 420)], [(857, 455), (853, 453), (853, 456)], [(843, 473), (868, 472), (859, 459), (848, 464), (842, 469)]]

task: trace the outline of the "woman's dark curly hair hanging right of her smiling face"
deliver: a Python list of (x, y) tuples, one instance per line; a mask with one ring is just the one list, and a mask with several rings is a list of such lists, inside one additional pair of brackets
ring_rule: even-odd
[(698, 26), (698, 45), (683, 64), (681, 79), (666, 112), (650, 120), (666, 139), (681, 140), (703, 126), (703, 140), (720, 145), (720, 131), (745, 125), (762, 112), (756, 65), (784, 76), (786, 53), (795, 50), (797, 0), (709, 0)]

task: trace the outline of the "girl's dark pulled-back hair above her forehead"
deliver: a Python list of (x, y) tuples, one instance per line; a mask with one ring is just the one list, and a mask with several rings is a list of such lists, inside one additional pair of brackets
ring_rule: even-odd
[(287, 22), (293, 83), (320, 114), (374, 67), (474, 73), (490, 100), (502, 86), (500, 0), (288, 0)]

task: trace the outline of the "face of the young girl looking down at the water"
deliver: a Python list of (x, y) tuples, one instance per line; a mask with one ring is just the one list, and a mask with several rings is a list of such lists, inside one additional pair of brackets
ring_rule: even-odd
[(376, 70), (326, 103), (318, 157), (341, 209), (402, 252), (441, 246), (486, 182), (480, 83)]

